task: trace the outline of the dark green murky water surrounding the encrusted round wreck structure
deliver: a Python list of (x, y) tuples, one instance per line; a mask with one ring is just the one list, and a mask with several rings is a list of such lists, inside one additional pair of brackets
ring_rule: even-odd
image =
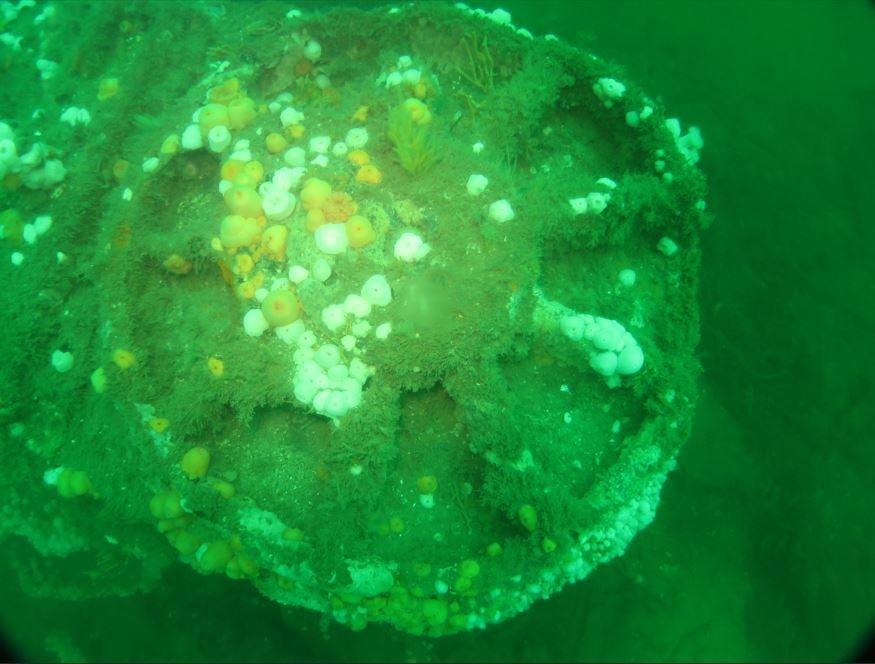
[[(701, 397), (655, 521), (622, 557), (486, 631), (351, 633), (175, 565), (125, 598), (34, 598), (4, 584), (13, 653), (836, 661), (858, 651), (875, 620), (871, 4), (501, 6), (535, 34), (623, 65), (705, 134), (699, 166), (715, 221), (701, 247)], [(4, 546), (0, 563), (11, 569), (22, 551)]]

